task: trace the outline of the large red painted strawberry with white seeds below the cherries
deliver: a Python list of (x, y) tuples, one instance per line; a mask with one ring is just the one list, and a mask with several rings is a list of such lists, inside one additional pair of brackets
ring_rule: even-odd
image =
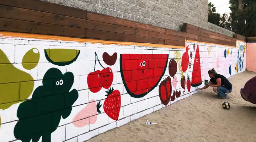
[(103, 105), (104, 111), (111, 119), (118, 120), (121, 107), (120, 92), (112, 87), (106, 93), (107, 98)]

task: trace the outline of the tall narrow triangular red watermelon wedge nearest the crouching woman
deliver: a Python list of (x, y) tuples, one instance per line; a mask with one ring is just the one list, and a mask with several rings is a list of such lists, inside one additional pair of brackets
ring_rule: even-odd
[(194, 65), (192, 71), (192, 79), (191, 86), (197, 87), (202, 84), (202, 76), (201, 76), (201, 63), (200, 63), (200, 54), (199, 54), (199, 46), (197, 44), (196, 55), (194, 58)]

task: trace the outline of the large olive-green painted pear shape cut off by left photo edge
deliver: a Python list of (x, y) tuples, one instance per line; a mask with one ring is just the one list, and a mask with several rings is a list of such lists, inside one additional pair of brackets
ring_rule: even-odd
[(13, 104), (23, 102), (33, 91), (33, 77), (12, 65), (1, 49), (0, 78), (0, 109), (7, 109)]

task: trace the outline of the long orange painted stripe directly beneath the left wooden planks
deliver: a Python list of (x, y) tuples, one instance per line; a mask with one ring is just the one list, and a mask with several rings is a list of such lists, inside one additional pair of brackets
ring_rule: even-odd
[(101, 43), (106, 45), (136, 45), (143, 47), (159, 47), (159, 48), (178, 48), (184, 49), (182, 46), (175, 45), (165, 45), (165, 44), (152, 44), (152, 43), (136, 43), (136, 42), (115, 42), (115, 41), (106, 41), (106, 40), (97, 40), (97, 39), (83, 39), (83, 38), (70, 38), (70, 37), (60, 37), (55, 35), (41, 35), (41, 34), (28, 34), (28, 33), (14, 33), (14, 32), (0, 32), (0, 37), (2, 38), (34, 38), (34, 39), (47, 39), (47, 40), (59, 40), (62, 41), (73, 41), (79, 43)]

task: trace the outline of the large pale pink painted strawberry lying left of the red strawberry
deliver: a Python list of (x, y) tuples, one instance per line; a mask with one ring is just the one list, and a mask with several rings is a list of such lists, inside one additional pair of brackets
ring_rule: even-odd
[[(78, 112), (73, 118), (73, 125), (76, 127), (84, 127), (85, 125), (95, 124), (97, 121), (97, 111), (100, 113), (100, 102), (96, 104), (95, 100), (90, 100), (86, 107)], [(84, 119), (86, 118), (86, 119)], [(79, 121), (78, 121), (79, 120)]]

